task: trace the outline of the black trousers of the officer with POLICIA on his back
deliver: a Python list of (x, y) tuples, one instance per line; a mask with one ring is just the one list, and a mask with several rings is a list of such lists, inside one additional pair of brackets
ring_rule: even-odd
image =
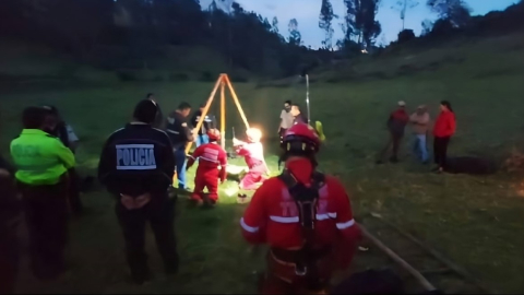
[[(162, 197), (162, 198), (159, 198)], [(175, 237), (175, 203), (166, 196), (154, 196), (153, 200), (138, 210), (127, 210), (120, 202), (116, 205), (117, 217), (126, 240), (126, 257), (135, 280), (150, 274), (145, 253), (145, 223), (150, 222), (156, 247), (164, 260), (166, 273), (178, 270), (178, 253)]]

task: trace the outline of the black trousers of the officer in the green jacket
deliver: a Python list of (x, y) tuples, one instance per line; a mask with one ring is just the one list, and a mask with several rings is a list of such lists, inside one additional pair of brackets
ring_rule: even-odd
[(68, 177), (53, 186), (19, 184), (29, 234), (31, 267), (36, 278), (51, 280), (66, 270)]

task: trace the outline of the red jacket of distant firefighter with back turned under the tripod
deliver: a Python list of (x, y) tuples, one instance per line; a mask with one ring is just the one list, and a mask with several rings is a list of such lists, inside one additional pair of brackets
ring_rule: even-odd
[[(226, 165), (227, 153), (216, 142), (205, 143), (196, 148), (193, 154), (189, 156), (188, 169), (194, 164), (194, 161), (199, 160), (199, 167), (196, 168), (196, 175), (206, 175), (221, 177), (221, 180), (226, 179)], [(218, 172), (218, 166), (221, 170)]]

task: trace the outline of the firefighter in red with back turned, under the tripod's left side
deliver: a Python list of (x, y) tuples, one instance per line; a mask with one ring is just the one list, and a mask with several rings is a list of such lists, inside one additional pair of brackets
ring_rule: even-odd
[[(196, 176), (194, 177), (194, 190), (191, 199), (200, 205), (203, 203), (204, 188), (207, 187), (209, 202), (213, 205), (218, 200), (218, 179), (221, 184), (226, 180), (227, 153), (217, 144), (221, 140), (221, 132), (216, 129), (207, 131), (210, 143), (196, 148), (189, 156), (187, 168), (189, 169), (199, 160)], [(218, 169), (221, 166), (221, 169)]]

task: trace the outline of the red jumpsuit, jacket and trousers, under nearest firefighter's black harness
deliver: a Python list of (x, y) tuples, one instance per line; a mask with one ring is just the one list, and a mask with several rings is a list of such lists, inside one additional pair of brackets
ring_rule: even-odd
[[(313, 167), (308, 160), (288, 162), (286, 167), (297, 181), (311, 184)], [(356, 241), (360, 238), (360, 229), (353, 219), (349, 198), (342, 184), (330, 176), (325, 177), (324, 184), (319, 189), (313, 240), (314, 248), (332, 249), (318, 262), (321, 273), (319, 275), (329, 280), (336, 263), (343, 269), (349, 266), (356, 250)], [(306, 292), (300, 285), (296, 285), (299, 279), (295, 272), (295, 264), (279, 261), (272, 255), (275, 248), (293, 251), (300, 249), (303, 243), (297, 204), (279, 178), (267, 179), (257, 190), (240, 225), (249, 243), (267, 244), (272, 248), (267, 258), (270, 275), (262, 286), (262, 293)]]

